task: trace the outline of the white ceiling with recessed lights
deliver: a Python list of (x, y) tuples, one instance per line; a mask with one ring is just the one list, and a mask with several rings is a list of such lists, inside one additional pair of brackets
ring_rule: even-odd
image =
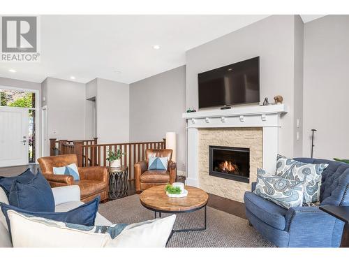
[[(185, 52), (267, 15), (42, 15), (40, 62), (1, 63), (0, 76), (131, 83), (185, 64)], [(304, 18), (302, 17), (304, 20)], [(307, 18), (308, 19), (308, 18)], [(307, 20), (306, 22), (309, 22)], [(154, 50), (153, 45), (161, 45)], [(10, 73), (15, 69), (16, 73)]]

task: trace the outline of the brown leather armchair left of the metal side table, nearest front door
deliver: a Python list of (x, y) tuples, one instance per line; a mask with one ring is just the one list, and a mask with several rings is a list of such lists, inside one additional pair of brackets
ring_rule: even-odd
[(51, 187), (64, 187), (77, 184), (80, 187), (80, 198), (88, 202), (101, 196), (101, 201), (107, 199), (109, 187), (108, 170), (103, 166), (91, 166), (77, 168), (80, 175), (79, 181), (74, 181), (71, 175), (54, 175), (53, 167), (67, 166), (75, 163), (77, 166), (76, 154), (62, 154), (56, 157), (41, 157), (38, 159), (44, 177), (50, 182)]

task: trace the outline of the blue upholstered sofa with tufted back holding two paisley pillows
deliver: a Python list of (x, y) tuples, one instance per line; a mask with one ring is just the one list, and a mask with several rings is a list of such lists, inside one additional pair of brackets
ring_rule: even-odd
[[(349, 205), (349, 164), (324, 159), (296, 158), (306, 163), (328, 163), (322, 172), (320, 205)], [(289, 210), (246, 192), (244, 202), (250, 224), (278, 247), (339, 247), (343, 221), (318, 207), (297, 207)]]

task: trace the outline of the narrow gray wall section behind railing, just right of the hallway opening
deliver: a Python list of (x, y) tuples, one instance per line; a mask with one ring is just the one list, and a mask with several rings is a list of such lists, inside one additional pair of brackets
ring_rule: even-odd
[(98, 143), (128, 143), (130, 133), (129, 85), (97, 78)]

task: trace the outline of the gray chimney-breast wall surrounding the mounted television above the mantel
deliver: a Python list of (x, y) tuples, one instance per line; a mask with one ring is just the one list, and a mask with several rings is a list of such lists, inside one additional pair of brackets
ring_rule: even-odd
[(260, 56), (260, 99), (281, 94), (279, 152), (294, 156), (295, 15), (272, 15), (186, 52), (186, 108), (198, 108), (198, 73)]

